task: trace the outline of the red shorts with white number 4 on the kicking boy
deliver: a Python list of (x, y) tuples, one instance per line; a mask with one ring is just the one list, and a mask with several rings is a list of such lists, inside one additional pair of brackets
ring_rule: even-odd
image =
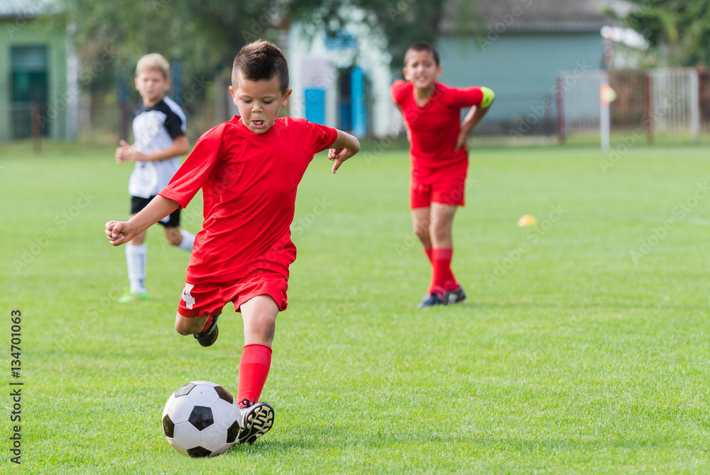
[(191, 284), (185, 282), (178, 313), (183, 317), (220, 315), (226, 302), (234, 302), (234, 311), (244, 302), (258, 295), (273, 298), (278, 310), (286, 310), (288, 281), (278, 272), (257, 269), (244, 278), (231, 282)]

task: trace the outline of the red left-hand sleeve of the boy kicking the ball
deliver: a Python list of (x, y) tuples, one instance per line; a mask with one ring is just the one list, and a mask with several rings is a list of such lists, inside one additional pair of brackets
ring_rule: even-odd
[(158, 195), (170, 198), (178, 202), (181, 208), (185, 208), (212, 173), (214, 164), (222, 155), (222, 133), (224, 126), (217, 126), (205, 132), (195, 143), (195, 148), (180, 170)]

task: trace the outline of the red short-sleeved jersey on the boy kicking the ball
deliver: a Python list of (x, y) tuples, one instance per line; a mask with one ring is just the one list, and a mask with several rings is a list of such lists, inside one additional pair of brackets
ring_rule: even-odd
[(261, 134), (239, 119), (204, 133), (159, 193), (184, 208), (202, 188), (204, 224), (187, 267), (190, 283), (236, 280), (258, 268), (288, 278), (296, 188), (313, 155), (337, 138), (337, 130), (305, 119), (276, 119)]

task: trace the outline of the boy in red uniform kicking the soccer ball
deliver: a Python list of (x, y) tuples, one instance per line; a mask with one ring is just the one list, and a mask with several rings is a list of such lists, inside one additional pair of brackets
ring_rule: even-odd
[(271, 367), (278, 312), (286, 309), (296, 187), (317, 152), (331, 148), (333, 173), (357, 153), (354, 136), (305, 119), (277, 119), (288, 103), (288, 65), (272, 43), (241, 49), (229, 87), (239, 116), (207, 131), (170, 184), (128, 222), (109, 221), (106, 234), (124, 244), (202, 188), (203, 229), (187, 268), (175, 319), (182, 335), (214, 344), (226, 302), (244, 319), (244, 352), (237, 398), (242, 425), (237, 443), (252, 443), (273, 424), (273, 408), (257, 402)]

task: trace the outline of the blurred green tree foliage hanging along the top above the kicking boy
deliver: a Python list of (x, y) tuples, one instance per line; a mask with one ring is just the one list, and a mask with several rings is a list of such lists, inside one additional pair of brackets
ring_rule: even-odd
[(279, 28), (302, 21), (307, 31), (335, 35), (361, 21), (386, 41), (393, 64), (415, 41), (433, 42), (444, 11), (441, 0), (62, 0), (57, 18), (75, 26), (82, 63), (111, 58), (128, 70), (139, 56), (157, 51), (182, 60), (187, 77), (228, 68), (241, 46), (275, 40)]

